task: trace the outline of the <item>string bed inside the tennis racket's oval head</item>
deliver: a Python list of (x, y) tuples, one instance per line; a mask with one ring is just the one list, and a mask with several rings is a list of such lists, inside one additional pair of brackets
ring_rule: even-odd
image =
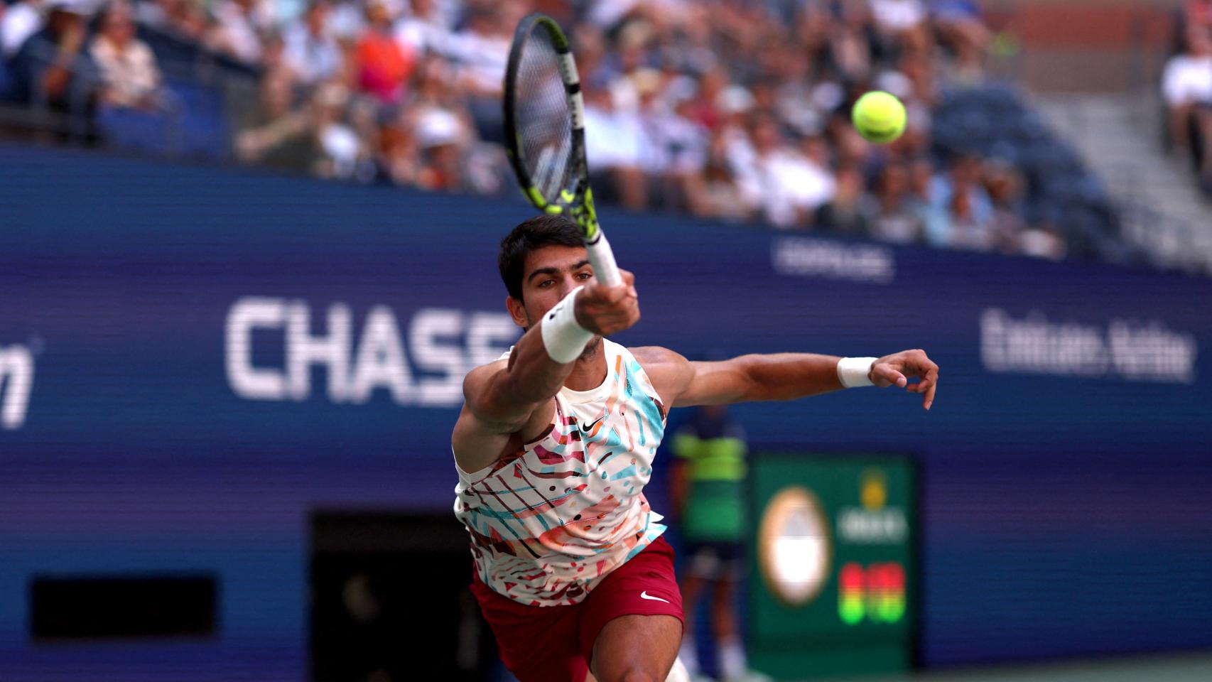
[(568, 189), (572, 167), (572, 120), (559, 52), (545, 29), (531, 31), (516, 71), (514, 120), (526, 172), (549, 202)]

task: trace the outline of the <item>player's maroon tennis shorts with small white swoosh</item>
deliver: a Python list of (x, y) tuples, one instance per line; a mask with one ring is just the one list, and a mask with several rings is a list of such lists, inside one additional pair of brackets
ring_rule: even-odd
[(520, 604), (479, 575), (471, 594), (497, 636), (501, 659), (520, 682), (582, 682), (598, 634), (621, 615), (673, 615), (685, 623), (674, 549), (664, 538), (612, 571), (581, 603)]

